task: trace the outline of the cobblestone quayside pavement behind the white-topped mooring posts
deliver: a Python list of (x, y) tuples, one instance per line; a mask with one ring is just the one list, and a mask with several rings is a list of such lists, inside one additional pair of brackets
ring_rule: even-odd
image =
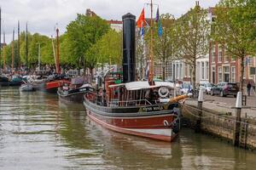
[[(187, 105), (197, 105), (197, 99), (188, 99), (185, 101)], [(219, 113), (230, 112), (233, 116), (236, 115), (236, 98), (234, 96), (219, 97), (204, 94), (203, 107), (218, 111)], [(251, 96), (247, 96), (247, 105), (243, 106), (241, 110), (241, 116), (255, 117), (256, 118), (256, 95), (253, 93)]]

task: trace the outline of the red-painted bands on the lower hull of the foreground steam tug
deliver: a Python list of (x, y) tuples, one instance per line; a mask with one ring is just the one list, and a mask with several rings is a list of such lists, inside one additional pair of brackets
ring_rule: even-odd
[[(98, 122), (103, 127), (107, 127), (108, 129), (111, 129), (115, 132), (132, 134), (136, 136), (141, 136), (149, 139), (157, 139), (157, 140), (162, 140), (166, 142), (171, 142), (177, 135), (176, 133), (172, 133), (172, 135), (171, 133), (170, 135), (163, 135), (163, 134), (143, 133), (143, 132), (136, 131), (136, 129), (143, 129), (143, 128), (155, 129), (155, 130), (171, 129), (172, 127), (170, 126), (169, 127), (164, 126), (163, 122), (164, 120), (173, 120), (173, 116), (160, 116), (160, 117), (151, 117), (151, 118), (131, 118), (131, 119), (125, 119), (126, 122), (123, 123), (124, 121), (122, 122), (122, 120), (124, 119), (122, 118), (113, 118), (113, 119), (111, 118), (105, 119), (106, 117), (99, 118), (100, 117), (99, 115), (94, 114), (88, 110), (86, 111), (87, 111), (87, 116), (89, 116), (90, 119), (94, 120), (95, 122)], [(113, 123), (106, 120), (112, 120)], [(151, 120), (154, 120), (154, 121), (151, 121)], [(127, 121), (131, 122), (132, 125), (127, 124)], [(158, 121), (158, 124), (153, 124), (153, 122), (157, 122), (157, 121)], [(134, 122), (137, 122), (137, 126), (133, 124)], [(140, 122), (143, 122), (143, 125), (140, 125)], [(160, 122), (161, 122), (161, 125), (160, 125)]]

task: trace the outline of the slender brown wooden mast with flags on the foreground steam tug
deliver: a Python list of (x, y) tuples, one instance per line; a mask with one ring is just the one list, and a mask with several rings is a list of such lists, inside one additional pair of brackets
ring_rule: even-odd
[(151, 0), (150, 3), (150, 8), (151, 8), (151, 18), (150, 18), (150, 54), (149, 54), (149, 77), (148, 77), (148, 82), (153, 82), (154, 79), (154, 59), (153, 59), (153, 3)]

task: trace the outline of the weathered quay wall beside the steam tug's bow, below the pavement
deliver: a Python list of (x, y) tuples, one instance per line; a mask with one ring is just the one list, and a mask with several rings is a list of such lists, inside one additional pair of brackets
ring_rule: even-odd
[[(217, 109), (218, 110), (218, 109)], [(202, 109), (201, 116), (195, 105), (183, 105), (183, 126), (198, 128), (198, 120), (201, 120), (200, 132), (211, 134), (230, 143), (233, 141), (236, 117), (229, 113)], [(256, 150), (256, 119), (253, 117), (241, 117), (240, 147)]]

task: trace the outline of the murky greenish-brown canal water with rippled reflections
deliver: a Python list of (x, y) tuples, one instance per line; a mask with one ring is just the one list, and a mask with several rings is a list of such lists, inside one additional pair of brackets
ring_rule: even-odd
[(0, 88), (0, 169), (256, 169), (256, 154), (183, 128), (165, 142), (114, 133), (83, 105)]

